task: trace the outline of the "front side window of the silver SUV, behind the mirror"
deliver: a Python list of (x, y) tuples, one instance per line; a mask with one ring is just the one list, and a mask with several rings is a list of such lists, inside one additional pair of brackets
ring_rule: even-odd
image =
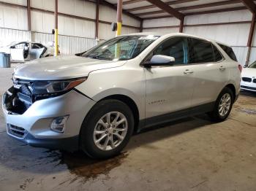
[(187, 64), (188, 63), (188, 45), (187, 38), (171, 38), (162, 42), (153, 55), (167, 55), (175, 58), (174, 64)]

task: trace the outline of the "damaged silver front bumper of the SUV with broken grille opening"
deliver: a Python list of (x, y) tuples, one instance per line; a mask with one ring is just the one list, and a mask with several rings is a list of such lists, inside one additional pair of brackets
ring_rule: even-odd
[[(2, 109), (7, 122), (7, 133), (34, 147), (50, 149), (78, 149), (80, 127), (95, 104), (90, 98), (71, 90), (64, 95), (30, 103), (19, 98), (15, 88), (4, 93)], [(56, 117), (69, 115), (63, 133), (50, 128)]]

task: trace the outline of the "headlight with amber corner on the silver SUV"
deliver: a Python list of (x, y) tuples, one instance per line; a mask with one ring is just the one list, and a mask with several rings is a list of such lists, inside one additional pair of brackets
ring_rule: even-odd
[(73, 87), (86, 81), (86, 78), (69, 79), (60, 81), (38, 81), (31, 85), (33, 94), (61, 93), (71, 90)]

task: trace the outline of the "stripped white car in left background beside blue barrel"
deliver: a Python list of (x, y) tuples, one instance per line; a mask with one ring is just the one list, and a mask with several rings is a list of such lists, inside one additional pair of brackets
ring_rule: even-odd
[(11, 55), (11, 61), (31, 61), (37, 58), (54, 55), (54, 47), (46, 47), (37, 42), (12, 42), (6, 47), (0, 47), (0, 52)]

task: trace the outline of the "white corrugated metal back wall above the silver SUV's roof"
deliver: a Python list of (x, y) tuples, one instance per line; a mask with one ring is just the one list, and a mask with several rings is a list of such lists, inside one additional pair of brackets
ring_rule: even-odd
[[(233, 11), (233, 12), (219, 12), (207, 15), (193, 15), (185, 17), (185, 25), (197, 25), (208, 23), (228, 23), (239, 21), (252, 20), (252, 13), (248, 10)], [(165, 18), (157, 20), (145, 20), (143, 27), (157, 26), (178, 26), (179, 20), (176, 18)], [(217, 26), (186, 26), (184, 33), (202, 36), (208, 39), (214, 39), (224, 42), (233, 47), (238, 61), (242, 64), (246, 62), (246, 55), (248, 48), (246, 47), (249, 36), (249, 23), (240, 23), (232, 25), (217, 25)], [(178, 28), (154, 28), (144, 29), (143, 31), (157, 31), (159, 33), (178, 32)], [(255, 32), (256, 33), (256, 32)], [(254, 37), (253, 46), (256, 46), (256, 35)], [(253, 47), (250, 56), (250, 62), (256, 60), (256, 48)]]

